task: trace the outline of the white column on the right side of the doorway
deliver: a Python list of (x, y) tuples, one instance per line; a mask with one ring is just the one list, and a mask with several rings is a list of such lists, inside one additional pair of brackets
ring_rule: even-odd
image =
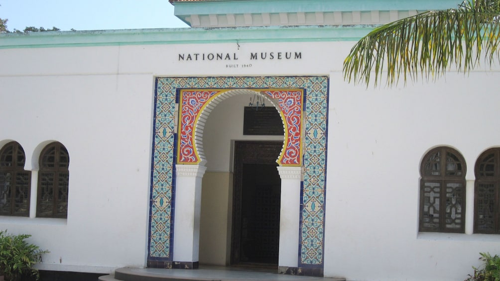
[(301, 167), (277, 167), (281, 177), (278, 268), (298, 266)]

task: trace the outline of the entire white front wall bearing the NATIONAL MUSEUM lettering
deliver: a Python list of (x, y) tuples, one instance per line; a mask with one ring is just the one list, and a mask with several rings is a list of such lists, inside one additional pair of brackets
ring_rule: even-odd
[[(449, 73), (436, 83), (365, 89), (341, 78), (352, 44), (1, 49), (0, 141), (22, 145), (30, 162), (26, 169), (36, 163), (33, 153), (40, 144), (59, 141), (69, 152), (70, 176), (67, 220), (0, 217), (0, 229), (32, 234), (31, 242), (49, 250), (42, 269), (107, 272), (144, 266), (154, 77), (329, 75), (325, 276), (465, 279), (478, 265), (479, 252), (500, 252), (500, 237), (419, 234), (418, 169), (429, 149), (450, 145), (464, 156), (468, 188), (473, 187), (477, 156), (500, 144), (499, 74)], [(239, 64), (251, 62), (251, 51), (300, 51), (302, 58), (228, 68), (223, 61), (177, 57), (179, 52), (221, 51), (237, 52)], [(242, 120), (241, 109), (234, 107), (240, 99), (246, 101), (232, 97), (227, 105), (220, 103), (209, 117), (224, 130), (205, 129), (207, 173), (231, 169), (228, 142), (243, 137), (228, 119)], [(218, 147), (218, 137), (227, 145)]]

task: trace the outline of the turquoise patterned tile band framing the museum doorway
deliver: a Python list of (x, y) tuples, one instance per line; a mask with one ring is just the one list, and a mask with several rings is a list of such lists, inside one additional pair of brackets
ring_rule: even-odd
[(172, 261), (175, 95), (180, 88), (303, 88), (305, 134), (299, 267), (322, 268), (328, 111), (327, 76), (158, 77), (151, 163), (148, 260)]

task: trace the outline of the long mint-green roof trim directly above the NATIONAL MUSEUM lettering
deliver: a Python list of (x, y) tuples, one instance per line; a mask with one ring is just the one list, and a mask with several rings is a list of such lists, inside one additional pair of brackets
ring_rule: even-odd
[(226, 42), (357, 41), (374, 25), (48, 31), (0, 34), (0, 49)]

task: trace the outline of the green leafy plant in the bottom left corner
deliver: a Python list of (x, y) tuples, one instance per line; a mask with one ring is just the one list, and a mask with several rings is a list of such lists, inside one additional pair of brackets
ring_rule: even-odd
[(34, 244), (29, 244), (25, 239), (31, 235), (9, 235), (7, 231), (0, 231), (0, 275), (6, 281), (18, 281), (34, 277), (39, 279), (38, 270), (33, 265), (41, 262), (41, 255), (48, 253), (42, 251)]

